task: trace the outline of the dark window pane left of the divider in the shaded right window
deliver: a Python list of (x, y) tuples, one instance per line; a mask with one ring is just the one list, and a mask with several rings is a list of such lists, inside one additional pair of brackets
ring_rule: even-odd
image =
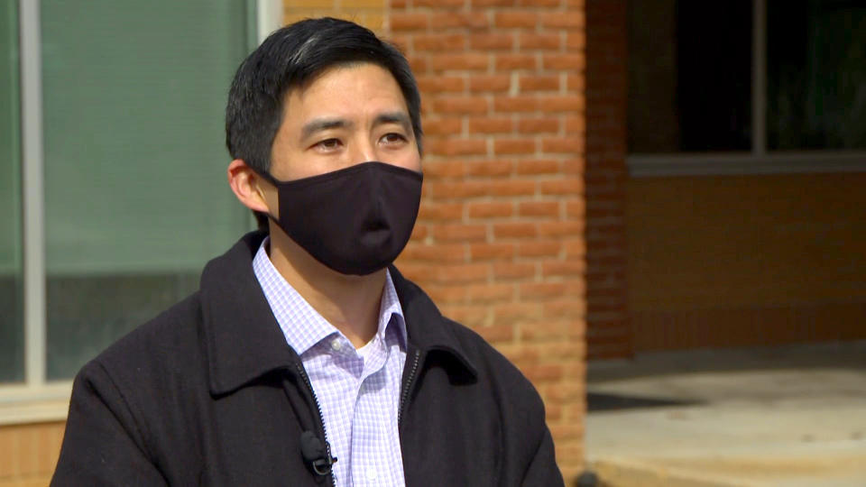
[(751, 8), (629, 3), (630, 152), (751, 148)]

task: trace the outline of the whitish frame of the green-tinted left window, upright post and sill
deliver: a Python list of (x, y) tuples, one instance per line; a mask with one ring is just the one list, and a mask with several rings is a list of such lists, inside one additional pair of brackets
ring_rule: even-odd
[[(282, 24), (282, 0), (251, 0), (256, 40)], [(254, 8), (254, 10), (253, 10)], [(40, 2), (18, 0), (23, 202), (24, 381), (0, 384), (0, 425), (66, 418), (72, 381), (46, 378)]]

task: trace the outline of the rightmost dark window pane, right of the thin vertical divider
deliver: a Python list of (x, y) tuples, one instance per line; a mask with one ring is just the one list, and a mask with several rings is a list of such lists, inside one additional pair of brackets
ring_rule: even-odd
[(866, 2), (767, 4), (770, 150), (866, 148)]

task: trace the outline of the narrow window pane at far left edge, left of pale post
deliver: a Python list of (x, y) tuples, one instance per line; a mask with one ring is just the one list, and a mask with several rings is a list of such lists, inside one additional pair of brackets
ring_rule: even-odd
[(0, 382), (23, 381), (18, 3), (0, 3)]

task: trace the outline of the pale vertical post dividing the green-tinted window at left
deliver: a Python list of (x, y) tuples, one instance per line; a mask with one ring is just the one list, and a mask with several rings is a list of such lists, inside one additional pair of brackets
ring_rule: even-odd
[(45, 227), (39, 2), (21, 0), (21, 133), (23, 196), (24, 380), (45, 382)]

